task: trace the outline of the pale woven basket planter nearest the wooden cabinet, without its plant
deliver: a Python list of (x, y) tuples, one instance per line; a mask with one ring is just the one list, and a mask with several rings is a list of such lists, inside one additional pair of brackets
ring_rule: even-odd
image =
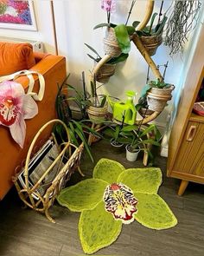
[(169, 88), (151, 88), (147, 93), (147, 103), (150, 110), (162, 112), (167, 102), (171, 99), (171, 92), (175, 89), (174, 85)]

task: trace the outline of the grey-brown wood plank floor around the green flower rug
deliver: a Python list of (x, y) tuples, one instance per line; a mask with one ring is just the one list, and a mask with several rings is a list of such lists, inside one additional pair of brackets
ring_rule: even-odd
[[(115, 159), (124, 167), (143, 167), (141, 159), (125, 161), (124, 153), (113, 152), (105, 141), (92, 146), (95, 162), (101, 157)], [(182, 197), (177, 196), (179, 181), (166, 177), (166, 159), (158, 157), (156, 166), (163, 170), (163, 185), (159, 194), (169, 204), (178, 219), (174, 228), (155, 231), (134, 221), (123, 226), (118, 240), (96, 255), (151, 255), (200, 256), (204, 255), (204, 192), (203, 186), (190, 184)], [(81, 169), (91, 177), (93, 164), (86, 157)], [(80, 181), (73, 174), (69, 184)], [(22, 209), (16, 190), (0, 202), (0, 256), (72, 256), (84, 255), (78, 237), (79, 213), (71, 213), (54, 203), (51, 213), (56, 224), (40, 213)]]

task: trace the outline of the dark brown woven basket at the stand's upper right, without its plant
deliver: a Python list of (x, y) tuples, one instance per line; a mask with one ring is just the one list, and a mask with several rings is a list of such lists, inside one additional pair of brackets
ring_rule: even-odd
[(149, 55), (154, 56), (156, 54), (156, 49), (163, 43), (163, 34), (158, 36), (141, 36), (140, 40)]

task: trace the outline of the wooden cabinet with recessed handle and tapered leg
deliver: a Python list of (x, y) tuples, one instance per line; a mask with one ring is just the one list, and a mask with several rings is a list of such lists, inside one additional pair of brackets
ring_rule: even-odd
[(202, 29), (169, 138), (167, 175), (182, 180), (179, 195), (184, 193), (189, 181), (204, 184), (204, 117), (192, 113), (204, 82), (203, 44)]

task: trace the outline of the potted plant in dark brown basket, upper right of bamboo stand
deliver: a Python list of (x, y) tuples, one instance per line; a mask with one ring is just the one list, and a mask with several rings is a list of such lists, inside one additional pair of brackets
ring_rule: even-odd
[[(160, 21), (162, 10), (160, 10), (159, 19), (156, 26), (153, 27), (157, 13), (154, 13), (150, 20), (150, 26), (146, 26), (143, 30), (137, 30), (136, 33), (140, 37), (143, 46), (147, 49), (150, 56), (156, 54), (156, 49), (163, 43), (163, 28), (167, 21), (167, 16), (163, 16)], [(132, 25), (137, 28), (140, 22), (135, 21)]]

